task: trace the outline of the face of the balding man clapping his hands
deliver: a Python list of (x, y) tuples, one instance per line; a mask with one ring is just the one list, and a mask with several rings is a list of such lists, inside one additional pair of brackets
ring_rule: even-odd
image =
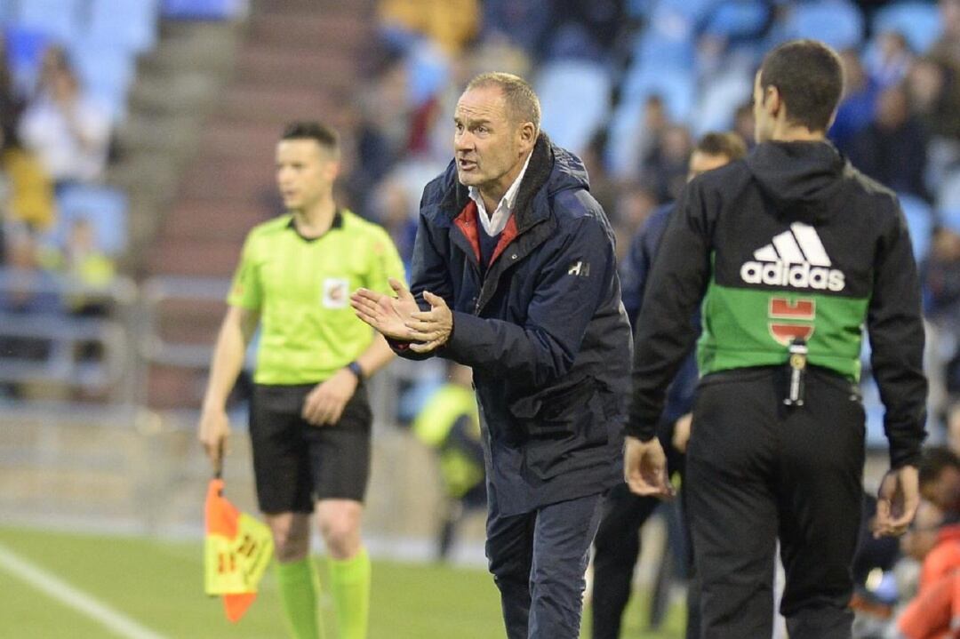
[(464, 93), (457, 102), (453, 122), (460, 183), (481, 191), (496, 192), (497, 187), (506, 190), (533, 146), (533, 125), (513, 121), (496, 86), (480, 86)]

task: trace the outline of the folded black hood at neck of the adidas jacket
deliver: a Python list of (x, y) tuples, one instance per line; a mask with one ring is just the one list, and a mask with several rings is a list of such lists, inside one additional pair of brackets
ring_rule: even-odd
[(747, 167), (778, 215), (822, 220), (842, 188), (846, 158), (829, 142), (764, 142), (747, 156)]

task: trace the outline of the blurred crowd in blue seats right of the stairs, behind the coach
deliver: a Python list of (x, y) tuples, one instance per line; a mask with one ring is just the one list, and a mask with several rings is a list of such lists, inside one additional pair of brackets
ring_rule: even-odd
[[(960, 0), (381, 0), (356, 118), (348, 201), (409, 261), (422, 186), (452, 156), (452, 113), (473, 75), (529, 79), (543, 130), (587, 164), (621, 257), (684, 186), (696, 139), (753, 143), (764, 52), (816, 37), (847, 85), (830, 137), (896, 190), (922, 266), (934, 438), (960, 399)], [(869, 379), (869, 358), (864, 357)], [(872, 443), (881, 408), (868, 390)]]

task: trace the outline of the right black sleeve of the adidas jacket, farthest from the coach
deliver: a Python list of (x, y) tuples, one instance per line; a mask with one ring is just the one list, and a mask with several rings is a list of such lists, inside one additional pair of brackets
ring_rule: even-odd
[(877, 247), (867, 330), (871, 366), (886, 409), (890, 467), (916, 465), (926, 436), (924, 321), (917, 265), (900, 207)]

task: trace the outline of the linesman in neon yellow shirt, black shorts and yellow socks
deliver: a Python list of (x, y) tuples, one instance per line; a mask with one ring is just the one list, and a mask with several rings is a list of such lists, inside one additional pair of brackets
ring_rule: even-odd
[(226, 400), (260, 328), (250, 437), (257, 501), (276, 545), (276, 579), (291, 634), (322, 636), (309, 558), (310, 515), (329, 556), (340, 639), (367, 636), (370, 558), (360, 538), (370, 476), (372, 413), (364, 381), (394, 354), (357, 319), (349, 294), (391, 293), (403, 265), (387, 232), (337, 206), (338, 136), (297, 122), (276, 145), (286, 214), (247, 236), (210, 365), (200, 440), (214, 467), (226, 449)]

